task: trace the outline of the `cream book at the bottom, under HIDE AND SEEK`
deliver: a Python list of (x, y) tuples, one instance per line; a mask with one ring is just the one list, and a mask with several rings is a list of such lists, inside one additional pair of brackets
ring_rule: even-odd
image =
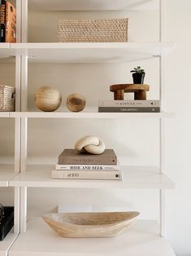
[(52, 179), (101, 179), (121, 180), (119, 170), (52, 170)]

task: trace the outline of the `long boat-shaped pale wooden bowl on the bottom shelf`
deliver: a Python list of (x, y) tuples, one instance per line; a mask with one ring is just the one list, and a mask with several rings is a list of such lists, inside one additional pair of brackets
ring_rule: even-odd
[(46, 223), (63, 237), (117, 236), (132, 223), (138, 212), (45, 214)]

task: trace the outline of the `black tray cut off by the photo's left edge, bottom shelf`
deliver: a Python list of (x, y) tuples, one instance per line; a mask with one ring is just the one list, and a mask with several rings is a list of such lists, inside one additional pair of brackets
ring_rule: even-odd
[(0, 241), (2, 241), (14, 226), (14, 207), (4, 206), (4, 218), (0, 223)]

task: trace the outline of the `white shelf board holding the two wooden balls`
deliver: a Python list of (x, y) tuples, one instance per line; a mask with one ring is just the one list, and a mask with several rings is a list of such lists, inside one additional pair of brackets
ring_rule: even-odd
[(168, 118), (175, 113), (98, 113), (98, 112), (11, 112), (10, 117), (29, 118)]

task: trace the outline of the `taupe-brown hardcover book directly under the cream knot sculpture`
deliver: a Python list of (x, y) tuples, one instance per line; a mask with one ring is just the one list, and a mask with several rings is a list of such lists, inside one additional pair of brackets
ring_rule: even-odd
[(59, 165), (117, 165), (117, 157), (113, 149), (106, 149), (100, 155), (64, 149), (59, 155)]

